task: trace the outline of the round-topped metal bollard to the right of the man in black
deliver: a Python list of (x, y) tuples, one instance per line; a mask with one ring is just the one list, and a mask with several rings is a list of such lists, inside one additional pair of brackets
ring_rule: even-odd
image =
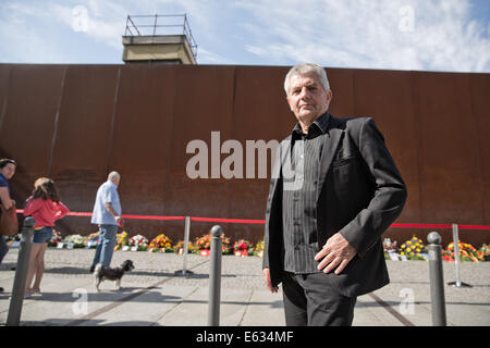
[(430, 301), (432, 303), (432, 325), (446, 326), (444, 278), (442, 274), (441, 235), (431, 232), (429, 241)]

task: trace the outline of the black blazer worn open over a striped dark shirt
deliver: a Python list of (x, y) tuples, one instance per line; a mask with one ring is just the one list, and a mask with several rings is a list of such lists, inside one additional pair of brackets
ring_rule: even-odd
[[(344, 296), (373, 291), (389, 281), (382, 233), (402, 212), (407, 192), (384, 138), (370, 117), (330, 115), (323, 137), (317, 191), (318, 251), (340, 232), (357, 251), (341, 274), (330, 272)], [(291, 135), (278, 146), (267, 199), (264, 268), (273, 286), (282, 274), (282, 167), (291, 157)]]

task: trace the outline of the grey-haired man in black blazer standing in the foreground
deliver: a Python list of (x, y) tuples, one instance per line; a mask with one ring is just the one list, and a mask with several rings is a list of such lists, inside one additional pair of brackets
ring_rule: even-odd
[(382, 233), (405, 184), (372, 119), (336, 119), (326, 71), (290, 70), (297, 124), (278, 147), (267, 200), (264, 276), (282, 283), (287, 325), (352, 325), (359, 295), (389, 283)]

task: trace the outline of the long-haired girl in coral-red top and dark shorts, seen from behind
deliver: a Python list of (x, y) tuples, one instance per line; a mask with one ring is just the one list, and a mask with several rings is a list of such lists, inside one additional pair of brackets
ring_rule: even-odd
[[(54, 221), (64, 217), (69, 212), (70, 210), (60, 200), (54, 182), (47, 177), (39, 177), (34, 183), (33, 196), (27, 199), (24, 208), (24, 215), (36, 220), (25, 297), (40, 293), (40, 282), (45, 273), (45, 252), (52, 238)], [(36, 281), (30, 287), (34, 276)]]

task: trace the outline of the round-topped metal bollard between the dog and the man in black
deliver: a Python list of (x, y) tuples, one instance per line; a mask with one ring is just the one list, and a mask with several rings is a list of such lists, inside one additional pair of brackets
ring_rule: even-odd
[(208, 326), (220, 325), (221, 296), (221, 226), (211, 228), (211, 263), (209, 265), (209, 310)]

